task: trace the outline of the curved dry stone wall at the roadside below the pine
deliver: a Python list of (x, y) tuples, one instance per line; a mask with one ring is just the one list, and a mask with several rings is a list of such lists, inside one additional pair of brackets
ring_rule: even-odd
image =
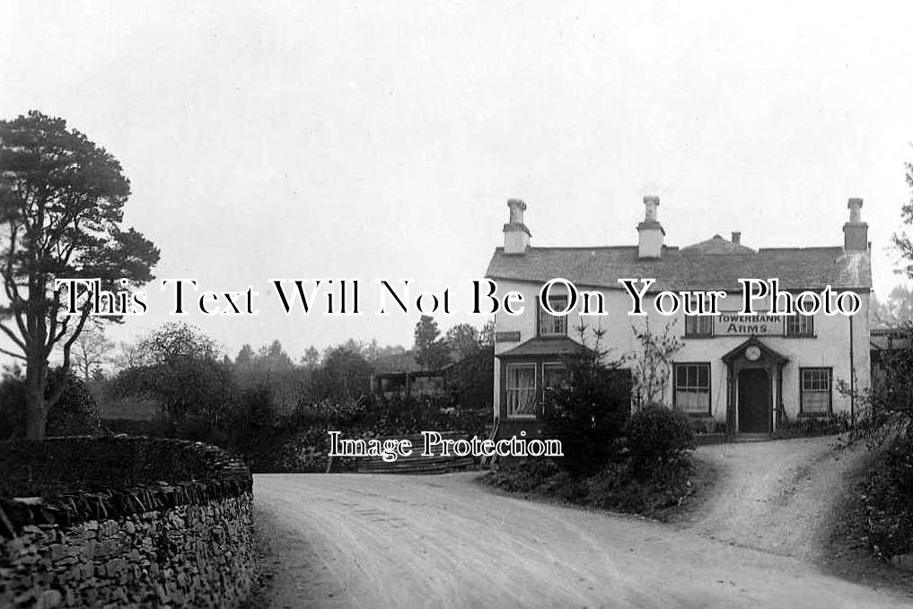
[[(231, 607), (246, 598), (254, 562), (243, 463), (177, 440), (42, 444), (0, 442), (0, 607)], [(66, 456), (77, 449), (79, 488), (65, 491)], [(59, 467), (38, 463), (38, 453)], [(138, 455), (168, 457), (126, 460)], [(16, 485), (53, 491), (26, 499)]]

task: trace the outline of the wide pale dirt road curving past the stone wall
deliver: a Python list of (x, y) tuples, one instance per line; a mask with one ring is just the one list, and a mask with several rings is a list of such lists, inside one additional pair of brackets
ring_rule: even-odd
[(255, 476), (277, 607), (888, 607), (694, 530), (492, 493), (476, 473)]

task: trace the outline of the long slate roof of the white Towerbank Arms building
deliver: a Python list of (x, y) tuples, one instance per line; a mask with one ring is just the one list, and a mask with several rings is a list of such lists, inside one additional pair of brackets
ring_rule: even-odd
[(497, 248), (486, 276), (543, 284), (556, 277), (577, 286), (624, 289), (619, 278), (654, 278), (650, 292), (739, 290), (740, 278), (780, 279), (781, 289), (864, 289), (872, 286), (871, 257), (843, 247), (761, 248), (752, 250), (715, 235), (708, 241), (663, 247), (656, 260), (640, 260), (636, 246), (530, 247), (506, 254)]

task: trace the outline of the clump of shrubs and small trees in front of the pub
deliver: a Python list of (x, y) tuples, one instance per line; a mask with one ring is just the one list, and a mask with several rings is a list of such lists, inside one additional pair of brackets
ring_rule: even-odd
[(572, 380), (551, 390), (544, 411), (543, 434), (561, 440), (564, 456), (503, 463), (484, 480), (511, 492), (662, 518), (694, 490), (694, 430), (683, 412), (655, 401), (632, 414), (630, 396), (656, 398), (656, 378), (665, 374), (657, 367), (665, 368), (677, 346), (638, 331), (654, 348), (632, 378), (601, 349), (600, 331), (578, 331), (592, 346), (566, 360)]

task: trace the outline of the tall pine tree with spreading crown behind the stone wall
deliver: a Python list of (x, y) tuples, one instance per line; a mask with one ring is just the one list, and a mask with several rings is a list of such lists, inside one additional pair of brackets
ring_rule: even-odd
[(158, 250), (124, 230), (130, 182), (121, 164), (64, 119), (31, 111), (0, 121), (0, 274), (5, 305), (0, 330), (12, 341), (6, 355), (26, 363), (26, 435), (43, 438), (47, 413), (66, 390), (47, 394), (48, 356), (60, 345), (63, 369), (89, 315), (64, 315), (55, 278), (100, 279), (122, 289), (152, 279)]

